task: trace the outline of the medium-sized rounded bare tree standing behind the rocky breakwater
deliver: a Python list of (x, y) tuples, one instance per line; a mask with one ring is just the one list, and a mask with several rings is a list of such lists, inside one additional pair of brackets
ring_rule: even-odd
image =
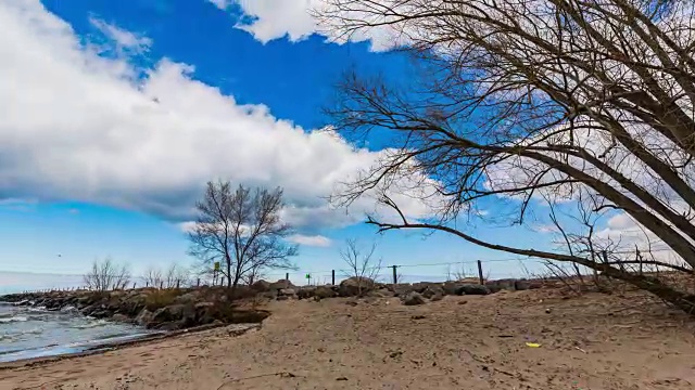
[(287, 237), (292, 226), (280, 220), (282, 190), (251, 190), (229, 182), (208, 182), (198, 203), (198, 220), (189, 233), (190, 253), (206, 269), (222, 264), (220, 273), (233, 296), (239, 282), (267, 269), (291, 269), (298, 246)]

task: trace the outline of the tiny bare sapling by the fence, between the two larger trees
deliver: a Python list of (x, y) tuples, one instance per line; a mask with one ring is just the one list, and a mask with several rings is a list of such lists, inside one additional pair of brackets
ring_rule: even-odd
[(340, 257), (348, 264), (348, 277), (354, 277), (357, 282), (357, 294), (362, 296), (363, 290), (372, 287), (371, 285), (381, 271), (381, 258), (375, 259), (374, 252), (377, 244), (364, 250), (354, 238), (345, 240), (345, 246), (340, 250)]

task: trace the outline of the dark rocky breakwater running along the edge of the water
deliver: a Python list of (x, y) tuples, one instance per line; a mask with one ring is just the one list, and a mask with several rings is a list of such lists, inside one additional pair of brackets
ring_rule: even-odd
[(0, 296), (0, 301), (49, 311), (79, 311), (83, 315), (132, 323), (149, 329), (176, 330), (211, 324), (260, 323), (269, 312), (230, 302), (224, 288), (113, 291), (51, 291)]

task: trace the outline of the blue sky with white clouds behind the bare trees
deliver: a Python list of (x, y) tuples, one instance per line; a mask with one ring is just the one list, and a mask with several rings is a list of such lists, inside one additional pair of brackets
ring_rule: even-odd
[[(336, 83), (349, 69), (396, 81), (414, 70), (388, 51), (388, 31), (351, 41), (321, 35), (307, 13), (316, 4), (0, 2), (0, 285), (22, 285), (18, 275), (29, 285), (31, 273), (79, 275), (106, 256), (134, 274), (191, 264), (185, 225), (216, 179), (285, 188), (300, 245), (293, 278), (344, 268), (348, 238), (376, 242), (384, 265), (483, 260), (495, 276), (518, 275), (517, 259), (445, 234), (376, 235), (363, 223), (378, 211), (369, 199), (349, 212), (327, 204), (338, 183), (389, 146), (379, 138), (354, 145), (326, 130), (323, 108)], [(408, 216), (427, 214), (401, 195)], [(611, 223), (606, 229), (630, 224)], [(525, 248), (551, 242), (522, 229), (468, 229)], [(446, 265), (402, 272), (443, 275)]]

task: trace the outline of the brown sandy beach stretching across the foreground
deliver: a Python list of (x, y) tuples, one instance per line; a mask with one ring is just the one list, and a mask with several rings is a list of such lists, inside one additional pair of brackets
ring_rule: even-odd
[(217, 328), (2, 369), (0, 389), (695, 388), (695, 321), (641, 294), (349, 301), (270, 302), (241, 336)]

